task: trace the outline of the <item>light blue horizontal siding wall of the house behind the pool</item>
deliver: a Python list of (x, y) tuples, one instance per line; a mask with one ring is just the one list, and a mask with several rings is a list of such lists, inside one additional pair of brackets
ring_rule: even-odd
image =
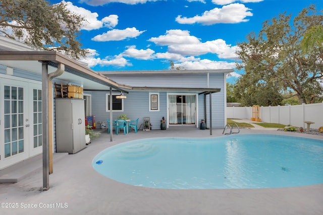
[[(212, 128), (223, 128), (225, 123), (225, 75), (223, 73), (209, 74), (158, 74), (158, 75), (106, 75), (110, 79), (136, 87), (182, 87), (182, 88), (220, 88), (221, 92), (212, 94)], [(207, 80), (209, 83), (207, 83)], [(105, 111), (106, 99), (105, 94), (109, 91), (84, 91), (86, 94), (92, 95), (92, 115), (95, 116), (96, 123), (105, 122), (106, 118), (110, 118), (110, 112)], [(159, 111), (149, 111), (149, 92), (136, 91), (126, 94), (124, 99), (124, 111), (113, 112), (113, 119), (120, 114), (127, 114), (131, 120), (139, 118), (138, 127), (143, 123), (144, 117), (150, 117), (152, 129), (160, 129), (160, 119), (164, 116), (167, 118), (167, 92), (159, 93)], [(178, 94), (196, 94), (195, 92), (169, 92)], [(204, 119), (204, 95), (198, 95), (198, 118), (197, 125), (200, 120)], [(206, 123), (209, 126), (209, 96), (206, 96)], [(142, 128), (142, 127), (141, 127)]]

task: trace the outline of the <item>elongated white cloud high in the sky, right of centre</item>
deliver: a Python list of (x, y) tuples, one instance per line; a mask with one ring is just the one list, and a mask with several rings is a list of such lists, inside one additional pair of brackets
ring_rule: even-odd
[(249, 8), (244, 5), (235, 3), (223, 6), (222, 8), (214, 8), (210, 11), (205, 11), (201, 16), (196, 15), (192, 18), (186, 18), (179, 15), (176, 21), (180, 24), (200, 23), (202, 25), (213, 25), (218, 23), (240, 23), (247, 22), (246, 17), (253, 14), (249, 12)]

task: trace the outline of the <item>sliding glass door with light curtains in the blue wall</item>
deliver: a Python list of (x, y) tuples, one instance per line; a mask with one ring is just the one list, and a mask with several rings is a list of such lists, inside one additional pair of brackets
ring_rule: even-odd
[(196, 95), (169, 96), (170, 125), (196, 124)]

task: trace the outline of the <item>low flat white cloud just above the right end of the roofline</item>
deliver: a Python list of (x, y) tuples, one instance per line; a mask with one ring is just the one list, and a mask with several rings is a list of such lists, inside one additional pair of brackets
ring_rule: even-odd
[(174, 67), (180, 67), (185, 69), (232, 69), (235, 67), (235, 63), (202, 59), (197, 61), (185, 61), (182, 63), (175, 63)]

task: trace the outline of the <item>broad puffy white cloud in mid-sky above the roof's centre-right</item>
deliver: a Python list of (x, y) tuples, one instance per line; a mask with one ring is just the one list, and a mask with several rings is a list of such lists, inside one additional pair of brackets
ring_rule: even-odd
[(220, 58), (236, 59), (236, 46), (226, 44), (222, 39), (206, 41), (204, 43), (189, 34), (189, 31), (169, 30), (166, 35), (152, 37), (148, 41), (156, 45), (168, 46), (168, 52), (181, 56), (198, 56), (206, 53), (218, 54)]

